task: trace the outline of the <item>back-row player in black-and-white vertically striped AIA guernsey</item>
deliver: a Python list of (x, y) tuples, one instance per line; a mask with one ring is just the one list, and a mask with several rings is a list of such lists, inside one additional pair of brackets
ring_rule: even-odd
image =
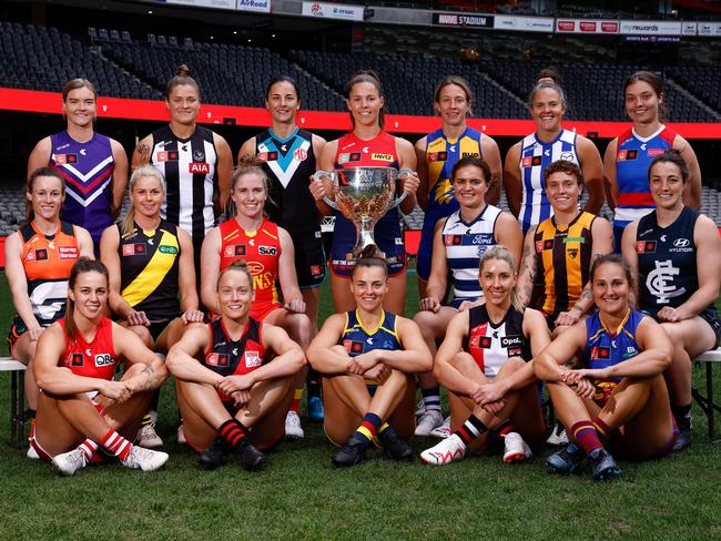
[(201, 245), (215, 226), (230, 195), (233, 155), (217, 133), (196, 124), (200, 89), (183, 64), (167, 82), (165, 106), (169, 125), (143, 139), (133, 153), (133, 169), (150, 163), (165, 178), (161, 217), (180, 225), (193, 239), (200, 276)]

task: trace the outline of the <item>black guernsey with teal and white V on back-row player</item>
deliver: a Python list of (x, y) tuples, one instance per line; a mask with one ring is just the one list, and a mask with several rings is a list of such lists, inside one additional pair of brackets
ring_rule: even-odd
[(271, 180), (265, 210), (271, 222), (288, 232), (318, 229), (318, 211), (308, 190), (308, 180), (315, 173), (312, 137), (298, 127), (287, 139), (275, 135), (273, 129), (255, 136), (255, 154)]

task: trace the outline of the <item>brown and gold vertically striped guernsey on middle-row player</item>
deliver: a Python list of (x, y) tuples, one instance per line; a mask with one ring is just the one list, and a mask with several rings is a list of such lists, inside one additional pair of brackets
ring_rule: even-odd
[(595, 214), (579, 213), (567, 226), (550, 217), (536, 226), (536, 284), (530, 306), (556, 318), (581, 296), (591, 264)]

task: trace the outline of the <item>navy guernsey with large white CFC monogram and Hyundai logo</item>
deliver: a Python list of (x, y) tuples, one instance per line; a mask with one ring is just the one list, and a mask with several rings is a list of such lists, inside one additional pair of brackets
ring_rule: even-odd
[(693, 244), (698, 218), (697, 211), (684, 206), (668, 227), (659, 227), (656, 211), (639, 221), (636, 232), (639, 306), (652, 317), (664, 306), (681, 306), (699, 288)]

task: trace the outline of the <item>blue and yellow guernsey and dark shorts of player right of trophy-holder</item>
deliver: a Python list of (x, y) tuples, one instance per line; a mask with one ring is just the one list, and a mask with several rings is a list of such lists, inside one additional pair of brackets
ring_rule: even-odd
[(433, 234), (436, 223), (458, 210), (450, 172), (461, 157), (483, 156), (481, 137), (483, 134), (473, 127), (466, 127), (466, 131), (457, 140), (447, 139), (440, 129), (429, 133), (426, 137), (426, 166), (430, 191), (418, 247), (417, 272), (422, 279), (427, 280), (430, 275)]

